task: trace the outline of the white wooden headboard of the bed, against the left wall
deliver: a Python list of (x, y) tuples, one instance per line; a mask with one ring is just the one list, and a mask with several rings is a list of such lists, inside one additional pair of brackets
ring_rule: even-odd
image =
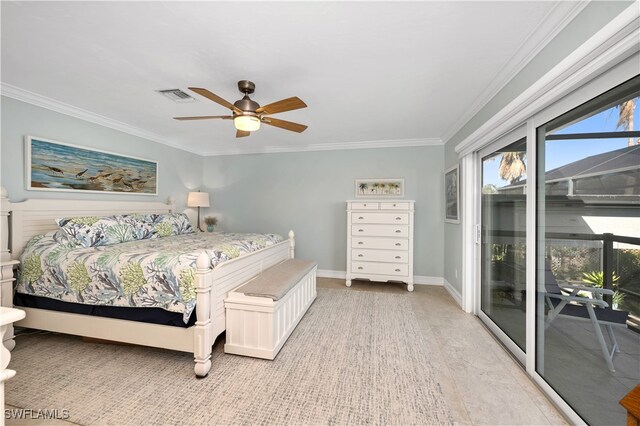
[(2, 261), (18, 259), (32, 237), (57, 229), (57, 218), (124, 213), (171, 213), (175, 209), (174, 204), (159, 201), (30, 199), (12, 203), (4, 188), (0, 195)]

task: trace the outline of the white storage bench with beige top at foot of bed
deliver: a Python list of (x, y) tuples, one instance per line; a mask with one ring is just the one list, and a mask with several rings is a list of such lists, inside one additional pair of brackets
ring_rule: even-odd
[(229, 293), (224, 351), (274, 359), (316, 298), (312, 260), (288, 259)]

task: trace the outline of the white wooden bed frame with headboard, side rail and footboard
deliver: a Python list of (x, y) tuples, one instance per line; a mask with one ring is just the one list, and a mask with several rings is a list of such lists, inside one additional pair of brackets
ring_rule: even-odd
[[(168, 213), (174, 209), (172, 204), (143, 201), (34, 199), (13, 203), (8, 200), (4, 190), (0, 200), (3, 262), (17, 260), (31, 237), (57, 229), (55, 218), (132, 212)], [(210, 258), (203, 252), (196, 261), (197, 321), (189, 328), (25, 307), (18, 307), (26, 312), (26, 318), (16, 325), (190, 352), (194, 354), (196, 376), (205, 377), (211, 369), (213, 343), (226, 329), (224, 299), (227, 294), (263, 270), (285, 259), (292, 259), (294, 249), (294, 234), (290, 231), (288, 240), (230, 260), (215, 269), (210, 267)], [(7, 297), (2, 297), (2, 300), (3, 305), (11, 302), (11, 298)]]

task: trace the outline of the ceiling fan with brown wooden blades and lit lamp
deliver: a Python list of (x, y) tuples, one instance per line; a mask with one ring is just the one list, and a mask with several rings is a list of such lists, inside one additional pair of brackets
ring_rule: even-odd
[(249, 95), (256, 89), (256, 85), (253, 84), (253, 82), (249, 80), (240, 80), (238, 82), (238, 89), (240, 90), (240, 92), (244, 93), (244, 97), (240, 100), (235, 101), (234, 103), (231, 103), (222, 99), (220, 96), (211, 93), (207, 89), (203, 89), (200, 87), (189, 87), (189, 90), (193, 90), (197, 94), (204, 96), (205, 98), (212, 100), (213, 102), (220, 104), (225, 108), (229, 108), (232, 112), (232, 115), (205, 115), (200, 117), (173, 118), (176, 120), (210, 120), (216, 118), (222, 120), (233, 120), (233, 124), (237, 129), (237, 138), (249, 136), (251, 132), (255, 132), (260, 128), (260, 123), (298, 133), (302, 133), (307, 129), (307, 126), (305, 126), (304, 124), (298, 124), (291, 121), (279, 120), (277, 118), (269, 117), (271, 114), (277, 114), (279, 112), (306, 108), (307, 104), (302, 102), (302, 100), (297, 96), (282, 99), (280, 101), (261, 107), (257, 102), (249, 98)]

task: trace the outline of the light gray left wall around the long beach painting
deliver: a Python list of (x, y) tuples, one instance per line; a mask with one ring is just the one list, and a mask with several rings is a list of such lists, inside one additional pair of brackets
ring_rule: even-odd
[[(173, 196), (177, 210), (182, 211), (186, 206), (187, 192), (199, 188), (202, 182), (201, 156), (5, 96), (1, 106), (0, 183), (12, 201), (26, 198), (166, 201)], [(25, 135), (157, 161), (158, 195), (27, 191)]]

